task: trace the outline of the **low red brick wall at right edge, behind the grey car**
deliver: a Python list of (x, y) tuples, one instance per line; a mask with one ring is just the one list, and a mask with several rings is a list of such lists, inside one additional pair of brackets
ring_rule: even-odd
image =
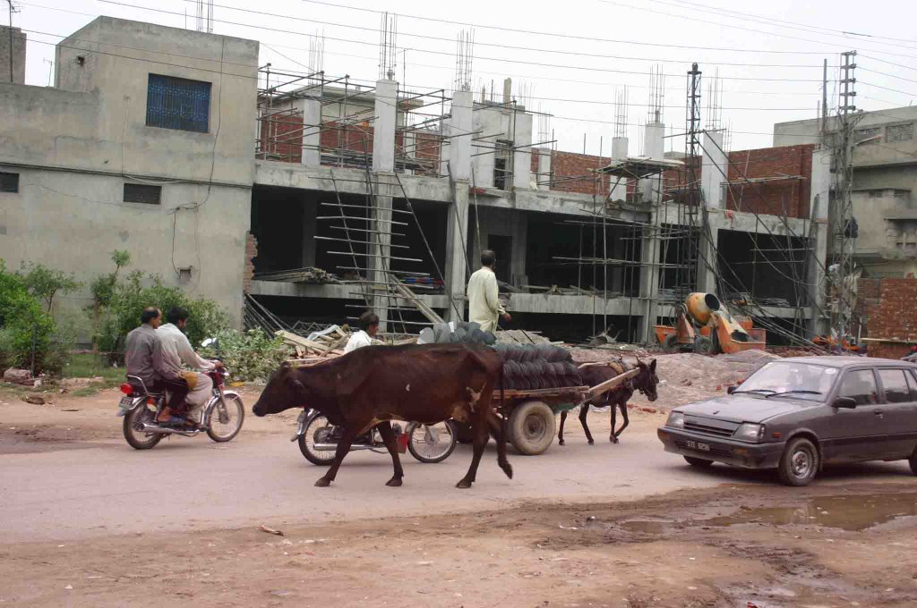
[(878, 281), (878, 302), (867, 305), (869, 338), (895, 342), (869, 342), (867, 351), (874, 357), (900, 359), (917, 344), (917, 279)]

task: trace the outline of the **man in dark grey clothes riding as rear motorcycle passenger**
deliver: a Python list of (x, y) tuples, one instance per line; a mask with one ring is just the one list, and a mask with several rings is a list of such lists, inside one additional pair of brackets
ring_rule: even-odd
[[(124, 351), (127, 375), (140, 378), (148, 391), (166, 389), (171, 393), (171, 402), (162, 408), (160, 415), (156, 418), (157, 422), (183, 423), (181, 418), (173, 417), (171, 412), (176, 408), (181, 408), (184, 396), (188, 393), (188, 385), (183, 379), (166, 381), (158, 371), (161, 352), (156, 328), (162, 323), (160, 309), (152, 306), (143, 309), (140, 314), (140, 323), (141, 325), (136, 330), (131, 330), (127, 334)], [(131, 384), (136, 382), (133, 378), (128, 378), (128, 381), (131, 381)]]

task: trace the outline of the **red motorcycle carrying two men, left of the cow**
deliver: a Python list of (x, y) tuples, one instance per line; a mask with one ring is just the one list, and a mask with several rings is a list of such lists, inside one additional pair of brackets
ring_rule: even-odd
[(195, 429), (176, 429), (157, 422), (160, 412), (166, 407), (165, 391), (152, 392), (138, 376), (128, 375), (130, 382), (121, 385), (124, 396), (118, 403), (117, 416), (124, 417), (124, 439), (130, 447), (149, 450), (163, 437), (194, 437), (201, 432), (206, 432), (207, 437), (219, 443), (236, 437), (245, 419), (242, 397), (223, 389), (229, 376), (226, 369), (215, 369), (205, 374), (213, 380), (213, 395), (201, 413), (201, 424)]

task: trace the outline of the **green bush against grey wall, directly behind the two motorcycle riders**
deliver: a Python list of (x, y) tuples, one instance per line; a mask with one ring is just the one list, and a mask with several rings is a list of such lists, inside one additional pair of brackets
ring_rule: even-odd
[(162, 285), (159, 276), (146, 277), (134, 271), (123, 280), (117, 281), (107, 305), (100, 309), (101, 322), (97, 343), (103, 351), (120, 353), (124, 349), (127, 332), (140, 323), (140, 313), (148, 306), (155, 306), (165, 315), (173, 306), (181, 306), (191, 313), (185, 333), (192, 346), (199, 345), (204, 338), (226, 329), (226, 311), (220, 309), (212, 299), (191, 299), (180, 288)]

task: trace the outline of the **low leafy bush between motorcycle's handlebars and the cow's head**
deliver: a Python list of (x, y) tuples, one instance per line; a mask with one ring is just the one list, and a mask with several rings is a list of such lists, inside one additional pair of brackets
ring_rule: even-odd
[(264, 380), (290, 356), (282, 338), (269, 338), (260, 330), (219, 331), (216, 347), (201, 350), (205, 357), (220, 357), (237, 380)]

